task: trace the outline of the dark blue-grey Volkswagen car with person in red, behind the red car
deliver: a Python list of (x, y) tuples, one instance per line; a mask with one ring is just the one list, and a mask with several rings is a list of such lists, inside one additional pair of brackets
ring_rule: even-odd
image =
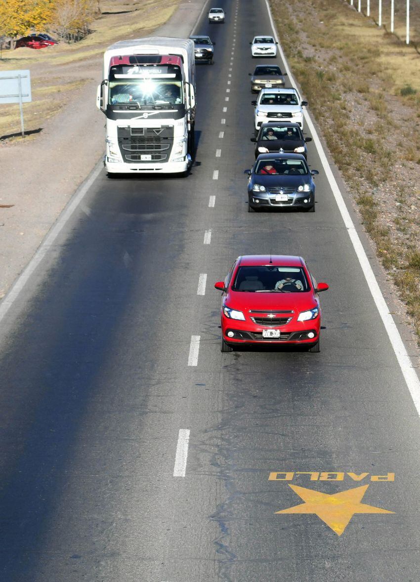
[(248, 212), (259, 208), (300, 208), (315, 212), (318, 170), (302, 154), (260, 154), (248, 174)]

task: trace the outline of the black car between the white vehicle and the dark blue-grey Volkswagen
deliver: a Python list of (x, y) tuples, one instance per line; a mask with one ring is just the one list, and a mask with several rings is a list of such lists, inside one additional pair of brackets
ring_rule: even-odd
[(255, 158), (259, 154), (279, 153), (283, 150), (286, 154), (302, 154), (306, 159), (306, 144), (312, 141), (312, 137), (304, 137), (297, 123), (270, 122), (263, 123), (257, 137), (251, 137), (251, 141), (255, 143)]

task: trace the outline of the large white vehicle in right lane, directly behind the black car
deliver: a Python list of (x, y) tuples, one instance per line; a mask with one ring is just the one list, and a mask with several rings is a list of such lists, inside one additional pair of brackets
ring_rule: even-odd
[(255, 107), (255, 132), (261, 123), (270, 121), (290, 121), (303, 129), (303, 109), (308, 105), (302, 101), (297, 89), (262, 89), (258, 100), (251, 101)]

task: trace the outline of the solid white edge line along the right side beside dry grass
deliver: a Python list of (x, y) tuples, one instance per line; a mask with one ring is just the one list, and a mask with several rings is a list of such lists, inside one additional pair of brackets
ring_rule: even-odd
[[(279, 43), (279, 53), (281, 58), (283, 59), (284, 68), (286, 69), (290, 83), (294, 85), (295, 81), (290, 72), (289, 65), (287, 64), (286, 56), (284, 55), (283, 49), (280, 45), (279, 37), (277, 35), (276, 26), (273, 21), (268, 0), (265, 0), (265, 3), (267, 6), (268, 16), (270, 19), (272, 30), (276, 37), (276, 41)], [(393, 347), (398, 364), (400, 365), (401, 372), (403, 372), (405, 383), (407, 384), (407, 388), (410, 391), (410, 395), (414, 402), (414, 406), (417, 409), (417, 413), (420, 415), (420, 380), (418, 378), (417, 372), (414, 370), (410, 356), (408, 355), (407, 349), (404, 346), (404, 342), (401, 339), (400, 332), (398, 332), (398, 328), (396, 326), (394, 318), (390, 314), (389, 307), (387, 306), (382, 291), (380, 290), (378, 282), (376, 281), (375, 274), (373, 273), (371, 264), (369, 263), (369, 259), (365, 253), (365, 249), (363, 248), (360, 237), (354, 226), (354, 222), (351, 219), (350, 214), (347, 210), (343, 195), (341, 194), (336, 179), (334, 178), (334, 175), (331, 171), (328, 159), (325, 155), (325, 152), (321, 144), (321, 140), (319, 139), (318, 134), (316, 133), (314, 124), (312, 123), (312, 119), (309, 116), (309, 113), (305, 110), (304, 116), (308, 124), (308, 128), (311, 132), (314, 145), (318, 150), (319, 157), (321, 158), (321, 164), (325, 171), (325, 175), (328, 179), (330, 187), (332, 189), (333, 196), (336, 200), (337, 206), (339, 207), (341, 218), (343, 218), (344, 225), (347, 228), (348, 236), (350, 236), (350, 240), (351, 243), (353, 244), (354, 251), (357, 255), (358, 261), (360, 262), (360, 266), (362, 268), (366, 282), (368, 283), (369, 290), (373, 297), (373, 301), (375, 301), (376, 308), (378, 308), (380, 318), (382, 319), (383, 325), (385, 326), (387, 335), (391, 342), (391, 346)]]

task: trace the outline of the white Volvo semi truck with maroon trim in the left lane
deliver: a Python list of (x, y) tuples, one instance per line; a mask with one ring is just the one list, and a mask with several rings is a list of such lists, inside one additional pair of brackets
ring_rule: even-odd
[(186, 173), (195, 147), (194, 42), (116, 42), (105, 51), (103, 79), (97, 107), (106, 116), (108, 176)]

